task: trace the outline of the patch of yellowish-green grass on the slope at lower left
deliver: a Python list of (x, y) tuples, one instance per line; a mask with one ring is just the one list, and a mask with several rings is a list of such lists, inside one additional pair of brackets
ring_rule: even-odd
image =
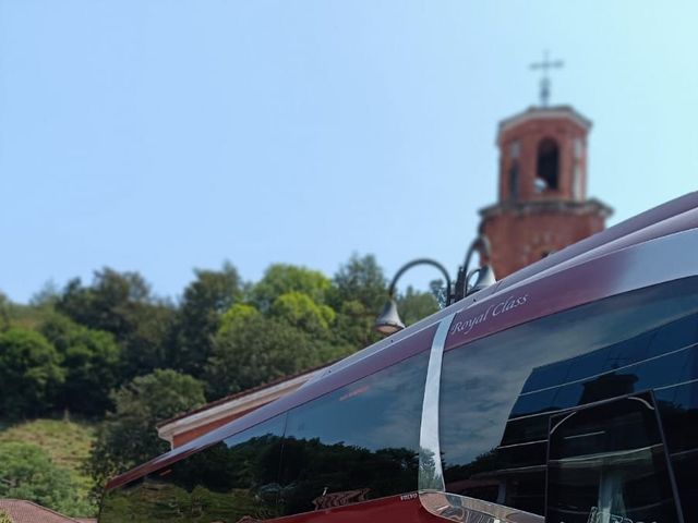
[(87, 499), (93, 486), (84, 465), (95, 441), (96, 425), (69, 419), (34, 419), (9, 425), (0, 422), (0, 441), (34, 443), (46, 450), (53, 462), (67, 469)]

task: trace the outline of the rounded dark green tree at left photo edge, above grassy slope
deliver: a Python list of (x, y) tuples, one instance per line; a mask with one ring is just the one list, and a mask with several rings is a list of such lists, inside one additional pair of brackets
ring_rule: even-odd
[(17, 328), (0, 333), (0, 413), (49, 411), (65, 379), (60, 364), (58, 351), (40, 333)]

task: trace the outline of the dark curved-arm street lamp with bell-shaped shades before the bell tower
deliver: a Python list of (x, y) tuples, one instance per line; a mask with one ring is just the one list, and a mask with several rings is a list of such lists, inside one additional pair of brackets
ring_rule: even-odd
[[(480, 253), (480, 258), (484, 260), (484, 265), (471, 271), (468, 271), (468, 268), (470, 267), (470, 259), (472, 258), (472, 255), (476, 251)], [(402, 267), (400, 267), (395, 277), (393, 277), (393, 281), (390, 281), (390, 287), (388, 288), (388, 301), (385, 303), (385, 305), (383, 306), (383, 312), (375, 320), (375, 330), (383, 335), (389, 336), (405, 328), (405, 324), (400, 319), (400, 315), (397, 312), (397, 302), (395, 301), (395, 285), (397, 284), (397, 280), (407, 270), (417, 265), (431, 265), (441, 270), (441, 272), (444, 275), (444, 278), (446, 279), (446, 306), (448, 306), (452, 303), (456, 303), (462, 300), (468, 294), (478, 292), (496, 281), (494, 277), (494, 270), (490, 265), (491, 257), (492, 246), (490, 244), (490, 240), (484, 234), (480, 234), (472, 241), (472, 243), (468, 247), (464, 265), (458, 267), (458, 277), (456, 278), (456, 285), (453, 287), (453, 289), (448, 271), (438, 262), (431, 258), (418, 258), (413, 259), (412, 262), (408, 262)], [(477, 281), (471, 287), (468, 287), (468, 282), (476, 273), (478, 275)]]

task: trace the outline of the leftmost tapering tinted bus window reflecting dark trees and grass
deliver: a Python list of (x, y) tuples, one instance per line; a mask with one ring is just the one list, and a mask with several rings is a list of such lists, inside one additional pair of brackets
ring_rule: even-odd
[(285, 416), (108, 492), (103, 523), (231, 521), (278, 515)]

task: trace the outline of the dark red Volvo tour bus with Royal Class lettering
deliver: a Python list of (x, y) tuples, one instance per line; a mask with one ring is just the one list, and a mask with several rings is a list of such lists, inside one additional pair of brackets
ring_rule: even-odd
[(698, 522), (698, 193), (112, 479), (100, 523)]

